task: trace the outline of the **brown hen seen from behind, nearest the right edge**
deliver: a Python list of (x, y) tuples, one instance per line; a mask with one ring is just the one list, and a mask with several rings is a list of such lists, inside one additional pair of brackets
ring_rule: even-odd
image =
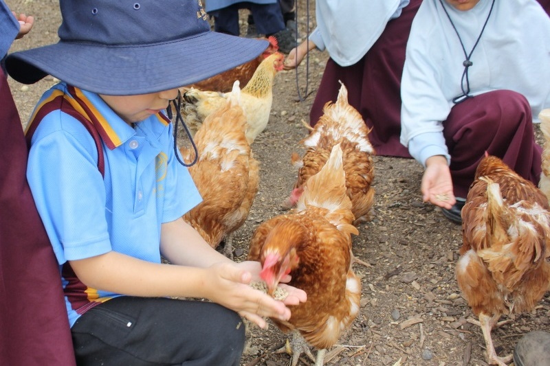
[(492, 365), (491, 330), (501, 314), (532, 310), (550, 280), (548, 200), (497, 157), (486, 156), (462, 209), (463, 246), (456, 264), (459, 287), (479, 319)]

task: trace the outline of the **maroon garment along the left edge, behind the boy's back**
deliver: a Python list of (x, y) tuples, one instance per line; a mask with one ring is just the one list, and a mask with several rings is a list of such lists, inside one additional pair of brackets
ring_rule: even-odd
[(0, 365), (75, 365), (61, 275), (27, 183), (27, 144), (1, 67), (0, 126)]

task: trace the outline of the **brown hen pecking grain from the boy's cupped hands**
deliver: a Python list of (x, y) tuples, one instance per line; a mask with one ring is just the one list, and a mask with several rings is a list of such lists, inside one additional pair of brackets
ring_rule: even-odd
[(296, 209), (263, 222), (252, 236), (248, 259), (262, 263), (268, 293), (288, 273), (289, 284), (307, 293), (305, 303), (290, 307), (289, 321), (272, 319), (283, 332), (293, 331), (292, 365), (301, 352), (311, 354), (304, 339), (320, 350), (316, 365), (322, 365), (326, 349), (357, 317), (361, 283), (351, 268), (351, 234), (358, 234), (353, 219), (342, 150), (336, 145), (305, 183)]

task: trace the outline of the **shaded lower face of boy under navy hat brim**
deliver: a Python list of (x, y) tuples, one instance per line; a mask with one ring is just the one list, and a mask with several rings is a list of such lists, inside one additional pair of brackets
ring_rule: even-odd
[(176, 97), (177, 89), (140, 95), (100, 94), (100, 98), (128, 124), (143, 121), (163, 111), (168, 107), (168, 102)]

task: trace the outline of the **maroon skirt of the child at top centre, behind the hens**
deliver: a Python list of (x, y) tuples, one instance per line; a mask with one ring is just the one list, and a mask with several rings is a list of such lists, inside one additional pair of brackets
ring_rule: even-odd
[(369, 139), (377, 155), (410, 157), (399, 142), (401, 133), (401, 73), (410, 25), (421, 0), (411, 0), (401, 16), (388, 22), (380, 38), (355, 65), (341, 67), (329, 59), (311, 106), (309, 120), (317, 123), (326, 102), (336, 101), (342, 80), (349, 92), (349, 104), (357, 109), (366, 125), (373, 128)]

